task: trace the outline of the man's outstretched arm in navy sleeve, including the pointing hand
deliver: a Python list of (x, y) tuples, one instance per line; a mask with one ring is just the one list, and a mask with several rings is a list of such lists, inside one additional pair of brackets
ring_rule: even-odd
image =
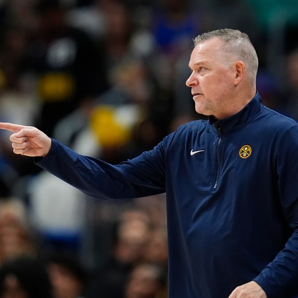
[(0, 129), (14, 132), (10, 140), (16, 154), (45, 157), (36, 163), (90, 196), (124, 199), (165, 192), (162, 146), (112, 165), (79, 155), (34, 127), (0, 123)]

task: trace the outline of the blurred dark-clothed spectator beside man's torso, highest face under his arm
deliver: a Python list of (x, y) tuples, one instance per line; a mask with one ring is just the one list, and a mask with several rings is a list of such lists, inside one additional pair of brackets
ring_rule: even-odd
[(116, 225), (112, 255), (91, 279), (86, 298), (124, 298), (129, 272), (143, 257), (151, 223), (145, 211), (130, 209)]

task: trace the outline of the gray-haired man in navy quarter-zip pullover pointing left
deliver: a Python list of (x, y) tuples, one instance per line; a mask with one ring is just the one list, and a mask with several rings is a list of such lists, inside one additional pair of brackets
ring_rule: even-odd
[(169, 298), (298, 297), (298, 124), (256, 92), (258, 60), (246, 34), (195, 39), (196, 111), (154, 149), (110, 165), (78, 155), (33, 127), (13, 131), (15, 153), (81, 191), (131, 198), (166, 191)]

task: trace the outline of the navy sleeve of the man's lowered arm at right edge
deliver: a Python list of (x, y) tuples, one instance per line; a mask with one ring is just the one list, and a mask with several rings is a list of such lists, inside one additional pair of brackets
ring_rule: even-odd
[(298, 297), (298, 126), (283, 135), (281, 144), (276, 153), (278, 189), (293, 233), (284, 249), (254, 279), (268, 298)]

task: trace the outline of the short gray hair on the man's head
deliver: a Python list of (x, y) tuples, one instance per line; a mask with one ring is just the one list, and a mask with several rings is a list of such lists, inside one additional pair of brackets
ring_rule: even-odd
[(226, 44), (225, 51), (234, 55), (236, 59), (241, 60), (248, 76), (255, 82), (258, 71), (258, 57), (248, 35), (239, 30), (219, 29), (198, 35), (194, 39), (194, 45), (198, 45), (204, 41), (219, 38)]

